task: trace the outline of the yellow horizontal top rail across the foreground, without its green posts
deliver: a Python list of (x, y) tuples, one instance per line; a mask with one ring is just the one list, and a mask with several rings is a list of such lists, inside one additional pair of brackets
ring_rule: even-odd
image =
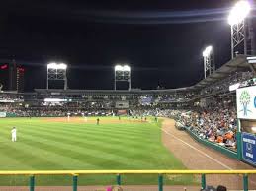
[(0, 171), (0, 175), (85, 175), (85, 174), (256, 174), (256, 170), (32, 170)]

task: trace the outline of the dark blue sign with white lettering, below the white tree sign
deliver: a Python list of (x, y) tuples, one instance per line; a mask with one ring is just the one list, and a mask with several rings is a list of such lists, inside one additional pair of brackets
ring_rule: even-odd
[(256, 136), (242, 133), (242, 157), (245, 161), (256, 165)]

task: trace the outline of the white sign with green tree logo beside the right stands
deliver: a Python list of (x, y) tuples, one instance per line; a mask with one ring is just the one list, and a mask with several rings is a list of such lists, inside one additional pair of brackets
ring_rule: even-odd
[(236, 90), (237, 117), (256, 119), (256, 86)]

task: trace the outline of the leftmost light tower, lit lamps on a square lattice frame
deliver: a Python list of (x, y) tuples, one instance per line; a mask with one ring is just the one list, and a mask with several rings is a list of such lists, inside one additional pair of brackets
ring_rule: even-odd
[(67, 65), (64, 63), (49, 63), (47, 64), (47, 89), (49, 81), (62, 80), (64, 81), (64, 90), (67, 89), (66, 78)]

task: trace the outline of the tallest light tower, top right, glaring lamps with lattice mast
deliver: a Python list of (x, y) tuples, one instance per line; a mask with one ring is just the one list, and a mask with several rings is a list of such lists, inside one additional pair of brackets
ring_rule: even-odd
[[(247, 41), (250, 39), (250, 51), (253, 51), (252, 32), (249, 24), (246, 24), (246, 18), (251, 10), (250, 3), (246, 0), (238, 1), (231, 9), (228, 16), (228, 24), (231, 26), (231, 55), (234, 58), (234, 53), (239, 45), (243, 45), (243, 53), (248, 54)], [(247, 36), (248, 35), (248, 36)], [(252, 53), (252, 52), (251, 52)]]

